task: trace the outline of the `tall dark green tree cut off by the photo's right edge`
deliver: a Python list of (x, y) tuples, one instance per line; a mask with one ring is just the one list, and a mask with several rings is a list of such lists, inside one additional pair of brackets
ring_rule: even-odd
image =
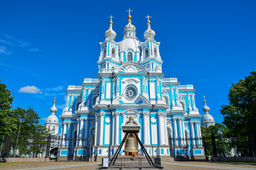
[(256, 144), (256, 72), (250, 74), (232, 84), (228, 94), (230, 103), (220, 109), (223, 124), (233, 135), (247, 134), (243, 138), (238, 137), (236, 141), (238, 150), (243, 155), (252, 155), (253, 146), (249, 144), (253, 141)]

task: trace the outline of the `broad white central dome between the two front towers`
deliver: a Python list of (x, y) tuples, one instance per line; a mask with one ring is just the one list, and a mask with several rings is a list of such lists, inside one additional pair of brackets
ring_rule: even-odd
[(139, 52), (139, 46), (139, 41), (135, 40), (135, 38), (124, 38), (124, 40), (119, 42), (120, 52), (127, 52), (129, 49)]

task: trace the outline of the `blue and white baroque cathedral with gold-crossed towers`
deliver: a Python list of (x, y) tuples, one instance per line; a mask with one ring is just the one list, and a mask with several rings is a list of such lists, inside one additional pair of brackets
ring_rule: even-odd
[[(136, 38), (130, 10), (124, 38), (115, 42), (117, 34), (110, 17), (106, 39), (100, 42), (97, 79), (85, 78), (81, 86), (70, 85), (65, 90), (59, 157), (112, 157), (125, 135), (122, 126), (129, 123), (131, 115), (140, 126), (137, 135), (149, 155), (204, 155), (196, 90), (191, 84), (181, 85), (177, 78), (164, 78), (160, 42), (154, 39), (156, 33), (147, 18), (144, 42)], [(55, 102), (50, 111), (46, 128), (56, 135), (59, 123)], [(202, 125), (214, 125), (210, 108), (205, 105), (203, 111)], [(122, 152), (124, 147), (120, 155), (127, 154)], [(142, 149), (138, 149), (135, 154), (142, 155)]]

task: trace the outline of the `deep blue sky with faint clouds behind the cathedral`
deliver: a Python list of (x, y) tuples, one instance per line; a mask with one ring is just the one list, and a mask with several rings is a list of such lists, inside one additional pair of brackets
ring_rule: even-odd
[(14, 108), (31, 106), (43, 124), (56, 96), (61, 115), (68, 85), (97, 78), (108, 16), (120, 41), (128, 8), (141, 41), (152, 16), (164, 77), (193, 84), (200, 113), (206, 96), (221, 123), (231, 84), (255, 71), (256, 1), (1, 1), (0, 79)]

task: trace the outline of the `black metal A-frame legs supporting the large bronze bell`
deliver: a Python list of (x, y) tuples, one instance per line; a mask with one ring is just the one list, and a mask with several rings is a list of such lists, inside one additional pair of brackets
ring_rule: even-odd
[[(144, 152), (144, 154), (145, 154), (145, 156), (146, 156), (146, 159), (148, 160), (149, 164), (150, 164), (150, 165), (153, 165), (153, 166), (156, 167), (156, 168), (163, 169), (162, 166), (159, 166), (159, 165), (154, 164), (154, 162), (152, 161), (151, 157), (149, 157), (148, 152), (146, 152), (145, 147), (142, 145), (141, 140), (139, 140), (139, 137), (137, 136), (136, 132), (130, 132), (130, 133), (134, 133), (134, 135), (135, 135), (137, 141), (139, 142), (139, 145), (142, 147), (142, 151)], [(111, 165), (112, 163), (113, 163), (112, 165), (114, 165), (114, 162), (116, 161), (116, 159), (117, 159), (117, 157), (118, 157), (118, 154), (119, 154), (119, 152), (120, 152), (122, 146), (124, 145), (124, 141), (126, 140), (128, 134), (129, 134), (129, 133), (127, 132), (126, 135), (124, 136), (124, 138), (123, 138), (121, 144), (119, 145), (117, 151), (114, 153), (114, 157), (111, 159), (110, 165)], [(154, 151), (152, 151), (152, 152), (154, 152)]]

